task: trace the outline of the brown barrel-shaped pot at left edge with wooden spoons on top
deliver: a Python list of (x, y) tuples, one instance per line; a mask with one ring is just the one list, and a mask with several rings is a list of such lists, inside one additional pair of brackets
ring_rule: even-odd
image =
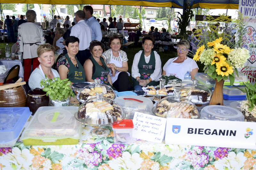
[[(5, 86), (7, 84), (1, 85)], [(17, 89), (0, 90), (0, 107), (25, 107), (26, 92), (22, 86)]]

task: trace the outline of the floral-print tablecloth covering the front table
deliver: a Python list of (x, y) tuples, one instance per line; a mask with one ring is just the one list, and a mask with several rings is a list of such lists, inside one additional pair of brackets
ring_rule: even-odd
[(133, 139), (114, 144), (113, 131), (106, 137), (83, 128), (77, 145), (0, 148), (0, 170), (249, 170), (256, 169), (256, 151), (250, 149), (167, 145)]

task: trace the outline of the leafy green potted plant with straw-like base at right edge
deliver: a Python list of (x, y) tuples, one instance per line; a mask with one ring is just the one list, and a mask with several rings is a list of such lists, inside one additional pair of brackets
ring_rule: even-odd
[(246, 100), (240, 102), (245, 121), (256, 122), (256, 83), (244, 82), (244, 89), (240, 90), (246, 93)]

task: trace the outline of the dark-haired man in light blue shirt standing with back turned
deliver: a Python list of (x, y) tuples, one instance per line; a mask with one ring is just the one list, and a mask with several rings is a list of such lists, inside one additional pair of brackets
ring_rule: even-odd
[(92, 41), (101, 41), (102, 33), (100, 30), (100, 23), (92, 16), (93, 9), (91, 6), (84, 6), (83, 11), (85, 12), (85, 23), (92, 28)]

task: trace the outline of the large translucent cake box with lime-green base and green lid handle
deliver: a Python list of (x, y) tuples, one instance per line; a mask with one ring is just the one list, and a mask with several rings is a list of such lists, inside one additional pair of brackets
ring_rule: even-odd
[(78, 107), (38, 108), (20, 140), (24, 145), (75, 145), (81, 137), (82, 125), (75, 119)]

